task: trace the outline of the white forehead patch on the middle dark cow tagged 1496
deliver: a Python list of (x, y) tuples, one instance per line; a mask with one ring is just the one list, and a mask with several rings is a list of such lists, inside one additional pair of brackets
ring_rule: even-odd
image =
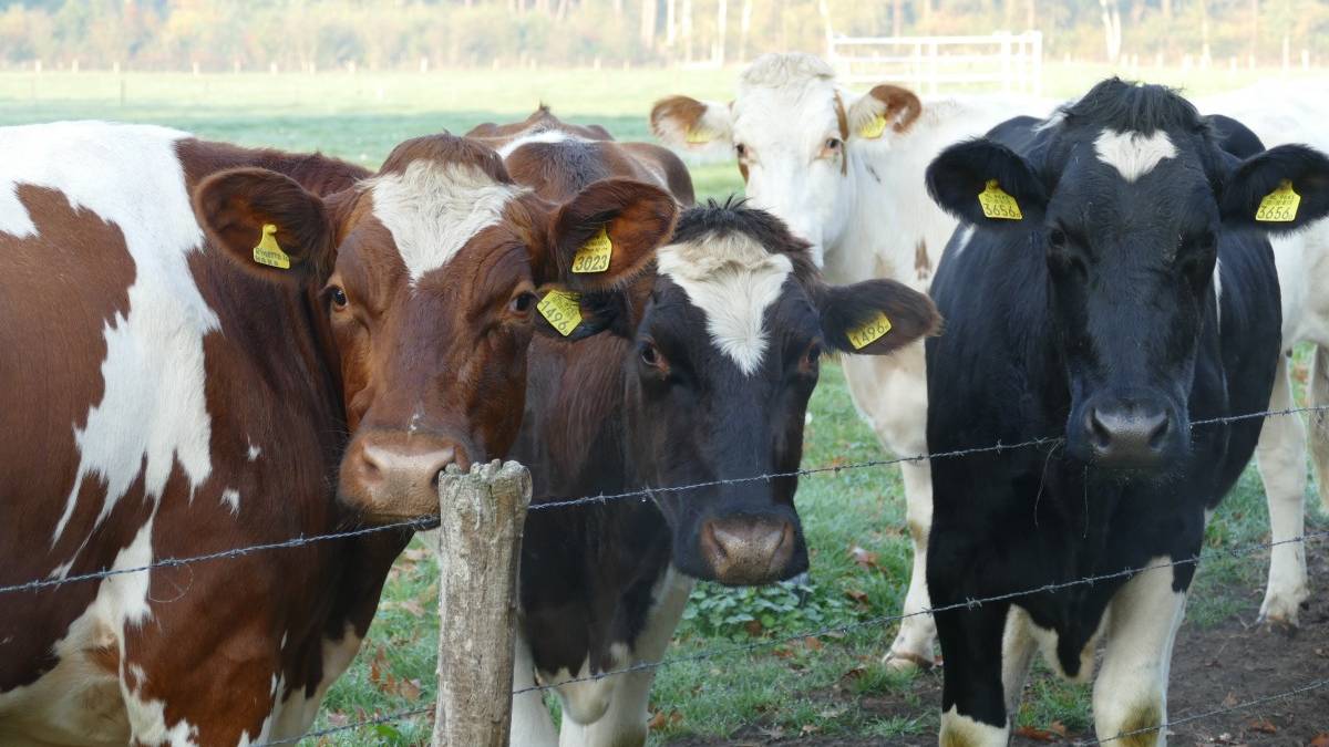
[(657, 267), (706, 315), (715, 347), (744, 376), (756, 372), (767, 348), (762, 320), (793, 271), (789, 258), (768, 253), (744, 234), (707, 234), (662, 247)]

